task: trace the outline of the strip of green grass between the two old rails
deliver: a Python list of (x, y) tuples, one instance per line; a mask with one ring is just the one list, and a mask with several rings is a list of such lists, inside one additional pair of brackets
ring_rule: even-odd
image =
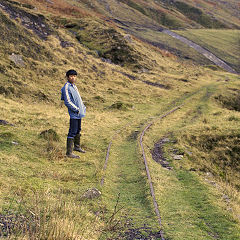
[[(111, 150), (113, 155), (110, 155), (106, 172), (103, 201), (108, 207), (113, 208), (113, 203), (119, 194), (119, 205), (122, 207), (120, 216), (125, 217), (122, 219), (123, 223), (130, 222), (134, 228), (147, 224), (157, 232), (157, 221), (151, 217), (154, 212), (148, 196), (144, 168), (136, 152), (133, 151), (136, 143), (119, 140), (116, 144), (114, 142)], [(120, 231), (112, 230), (115, 230), (111, 235), (112, 238), (114, 234), (116, 237), (121, 231), (126, 231), (125, 228), (120, 228)]]

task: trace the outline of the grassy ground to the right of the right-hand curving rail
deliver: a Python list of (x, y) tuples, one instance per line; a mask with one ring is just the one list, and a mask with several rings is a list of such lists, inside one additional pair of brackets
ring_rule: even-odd
[[(222, 156), (229, 154), (228, 148), (233, 147), (234, 141), (237, 141), (233, 133), (238, 131), (237, 124), (227, 124), (227, 119), (233, 112), (217, 106), (214, 100), (214, 95), (226, 87), (224, 82), (222, 83), (210, 85), (186, 99), (185, 105), (180, 110), (161, 122), (156, 121), (145, 136), (146, 149), (152, 149), (160, 136), (168, 136), (175, 142), (164, 146), (165, 157), (174, 169), (172, 171), (165, 170), (150, 160), (151, 155), (148, 150), (148, 161), (162, 214), (163, 229), (166, 237), (170, 239), (239, 238), (237, 187), (239, 173), (233, 173), (234, 170), (230, 167), (231, 174), (229, 172), (225, 179), (220, 172), (214, 172), (215, 168), (225, 171), (230, 169), (221, 168), (219, 161)], [(238, 82), (233, 78), (228, 84), (229, 87), (236, 87)], [(220, 114), (212, 118), (211, 115), (216, 112)], [(235, 117), (239, 115), (238, 112), (234, 113)], [(229, 134), (232, 138), (224, 141), (221, 151), (201, 148), (201, 144), (206, 144), (207, 139), (202, 142), (197, 139), (186, 140), (196, 133), (198, 136), (206, 133), (208, 138), (211, 135), (217, 137), (217, 132), (222, 134), (232, 132), (232, 135)], [(216, 145), (221, 146), (219, 142)], [(183, 159), (173, 160), (172, 149), (178, 149), (183, 153)], [(237, 158), (233, 155), (230, 157), (232, 161)], [(190, 169), (193, 170), (189, 171)], [(226, 196), (231, 200), (226, 200)]]

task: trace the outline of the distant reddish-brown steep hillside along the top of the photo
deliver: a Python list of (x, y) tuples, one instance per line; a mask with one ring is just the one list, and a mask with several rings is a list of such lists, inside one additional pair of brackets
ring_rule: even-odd
[[(26, 4), (32, 1), (21, 0)], [(32, 6), (32, 5), (30, 5)], [(36, 2), (44, 11), (83, 17), (97, 15), (113, 22), (124, 31), (180, 58), (203, 65), (212, 64), (204, 55), (189, 49), (176, 39), (162, 34), (163, 29), (239, 29), (238, 3), (224, 1), (45, 1)], [(160, 30), (160, 31), (159, 31)], [(205, 46), (202, 46), (205, 47)], [(214, 54), (214, 53), (213, 53)], [(228, 62), (227, 62), (228, 63)], [(229, 62), (231, 65), (232, 62)], [(236, 70), (236, 69), (235, 69)]]

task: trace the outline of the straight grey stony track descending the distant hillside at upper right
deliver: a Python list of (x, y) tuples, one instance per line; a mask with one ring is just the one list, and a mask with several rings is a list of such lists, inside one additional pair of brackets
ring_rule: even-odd
[(213, 53), (209, 52), (208, 50), (204, 49), (200, 45), (188, 40), (187, 38), (180, 36), (179, 34), (172, 32), (170, 30), (164, 29), (161, 32), (168, 34), (169, 36), (178, 39), (179, 41), (187, 44), (189, 47), (194, 48), (197, 52), (201, 53), (204, 55), (206, 58), (208, 58), (210, 61), (214, 62), (217, 66), (225, 69), (226, 71), (230, 73), (235, 73), (237, 72), (231, 68), (227, 63), (225, 63), (223, 60), (215, 56)]

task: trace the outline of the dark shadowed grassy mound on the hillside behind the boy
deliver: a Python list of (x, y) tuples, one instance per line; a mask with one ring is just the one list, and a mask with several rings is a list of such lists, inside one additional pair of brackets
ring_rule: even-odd
[(139, 54), (124, 36), (112, 27), (96, 20), (81, 19), (66, 23), (65, 28), (72, 32), (81, 44), (95, 51), (101, 58), (122, 66), (139, 64)]

